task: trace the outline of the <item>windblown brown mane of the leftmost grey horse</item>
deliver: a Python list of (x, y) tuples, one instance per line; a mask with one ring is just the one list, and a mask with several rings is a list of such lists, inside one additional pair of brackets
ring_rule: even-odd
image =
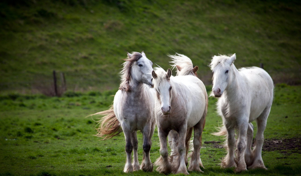
[(124, 90), (126, 92), (130, 91), (132, 65), (134, 62), (139, 60), (141, 57), (142, 57), (141, 53), (132, 52), (131, 57), (127, 57), (126, 59), (123, 59), (126, 62), (123, 63), (123, 69), (122, 69), (122, 71), (119, 72), (120, 77), (121, 77), (121, 83), (119, 86), (119, 90)]

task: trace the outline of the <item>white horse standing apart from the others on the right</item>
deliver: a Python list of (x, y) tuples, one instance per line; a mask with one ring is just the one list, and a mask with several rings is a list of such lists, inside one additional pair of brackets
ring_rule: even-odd
[[(213, 56), (209, 65), (213, 71), (213, 88), (210, 96), (218, 97), (217, 110), (223, 125), (214, 135), (225, 135), (228, 150), (222, 168), (236, 167), (235, 172), (247, 168), (266, 169), (261, 156), (268, 115), (273, 102), (274, 83), (270, 75), (258, 67), (237, 68), (236, 54)], [(252, 121), (256, 120), (255, 147)], [(235, 139), (235, 130), (238, 137)], [(234, 149), (237, 147), (236, 157)]]

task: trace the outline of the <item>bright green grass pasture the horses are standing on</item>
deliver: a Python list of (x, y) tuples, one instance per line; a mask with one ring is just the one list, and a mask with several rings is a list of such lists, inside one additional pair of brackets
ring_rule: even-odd
[[(286, 84), (275, 87), (262, 152), (268, 170), (255, 169), (240, 174), (234, 174), (233, 169), (221, 169), (218, 165), (226, 150), (221, 148), (222, 143), (213, 142), (222, 142), (223, 139), (210, 134), (221, 122), (215, 112), (216, 98), (210, 97), (201, 149), (204, 173), (190, 174), (300, 174), (300, 88)], [(106, 141), (99, 141), (100, 138), (93, 136), (96, 134), (94, 120), (98, 117), (86, 116), (108, 109), (113, 100), (109, 95), (114, 93), (68, 92), (60, 98), (19, 94), (1, 96), (0, 175), (164, 175), (157, 171), (123, 173), (126, 161), (123, 133)], [(140, 132), (138, 141), (141, 162)], [(160, 156), (157, 131), (152, 141), (151, 160), (154, 162)]]

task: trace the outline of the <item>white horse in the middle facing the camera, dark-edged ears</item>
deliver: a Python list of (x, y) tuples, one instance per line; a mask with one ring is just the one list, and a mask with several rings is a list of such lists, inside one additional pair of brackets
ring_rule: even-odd
[[(173, 77), (171, 74), (170, 69), (166, 72), (162, 68), (155, 68), (152, 72), (157, 94), (155, 117), (160, 140), (160, 157), (154, 165), (158, 166), (157, 171), (160, 173), (188, 174), (185, 153), (189, 149), (192, 132), (187, 131), (193, 129), (194, 150), (191, 152), (188, 170), (201, 171), (200, 138), (208, 105), (206, 88), (196, 76)], [(172, 132), (171, 137), (176, 144), (172, 145), (174, 150), (172, 162), (168, 158), (166, 141), (169, 132)]]

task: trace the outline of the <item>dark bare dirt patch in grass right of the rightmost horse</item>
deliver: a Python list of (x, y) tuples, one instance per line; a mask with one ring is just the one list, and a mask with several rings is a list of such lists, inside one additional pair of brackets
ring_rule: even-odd
[(265, 141), (263, 151), (280, 150), (281, 153), (301, 153), (301, 138)]

